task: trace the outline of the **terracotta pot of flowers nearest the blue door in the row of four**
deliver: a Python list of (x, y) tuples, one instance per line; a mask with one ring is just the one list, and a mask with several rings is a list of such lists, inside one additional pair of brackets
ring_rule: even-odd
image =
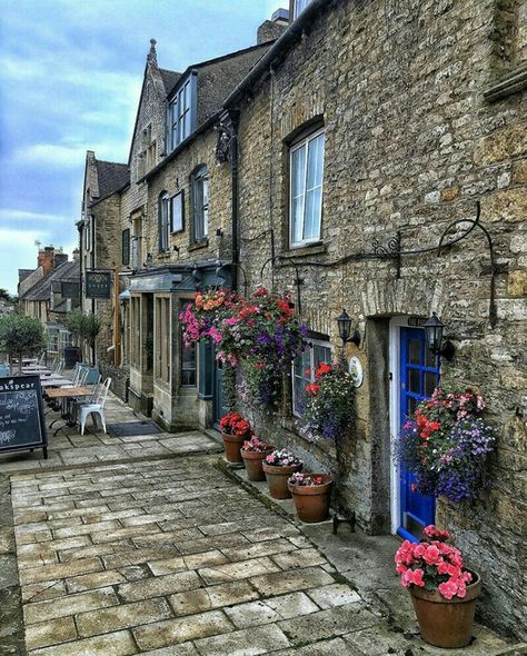
[(299, 519), (314, 524), (329, 517), (332, 484), (332, 478), (327, 474), (297, 471), (289, 478), (289, 491)]

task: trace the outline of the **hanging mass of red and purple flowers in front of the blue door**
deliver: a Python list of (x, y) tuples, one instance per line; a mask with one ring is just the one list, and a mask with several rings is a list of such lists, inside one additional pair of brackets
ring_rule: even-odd
[(416, 475), (414, 491), (458, 503), (474, 499), (487, 485), (487, 456), (495, 430), (481, 417), (483, 398), (471, 390), (437, 388), (402, 426), (399, 460)]

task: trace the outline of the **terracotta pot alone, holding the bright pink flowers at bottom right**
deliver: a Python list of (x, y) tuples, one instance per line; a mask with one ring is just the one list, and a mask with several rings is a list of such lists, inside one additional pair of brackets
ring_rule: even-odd
[(419, 623), (422, 639), (445, 649), (466, 647), (473, 635), (476, 598), (481, 590), (481, 578), (470, 571), (473, 583), (467, 585), (467, 595), (446, 599), (438, 592), (411, 585), (409, 592)]

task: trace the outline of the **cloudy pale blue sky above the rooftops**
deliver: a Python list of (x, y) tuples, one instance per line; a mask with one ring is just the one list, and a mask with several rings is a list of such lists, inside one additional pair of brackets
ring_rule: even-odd
[(287, 0), (13, 0), (0, 17), (0, 288), (77, 246), (86, 151), (126, 162), (150, 39), (170, 70), (256, 43)]

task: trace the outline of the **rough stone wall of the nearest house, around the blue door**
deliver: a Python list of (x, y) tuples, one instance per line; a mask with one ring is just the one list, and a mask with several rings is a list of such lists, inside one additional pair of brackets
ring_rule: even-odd
[[(521, 89), (485, 97), (516, 66), (504, 63), (516, 32), (503, 29), (503, 4), (332, 2), (241, 107), (241, 262), (253, 289), (272, 230), (276, 254), (294, 258), (304, 279), (309, 327), (337, 348), (341, 308), (358, 321), (364, 344), (349, 355), (362, 360), (365, 382), (339, 465), (328, 445), (298, 436), (287, 401), (278, 419), (253, 418), (261, 437), (294, 447), (309, 466), (339, 469), (340, 504), (368, 531), (389, 530), (389, 319), (434, 310), (448, 325), (457, 352), (443, 362), (443, 381), (480, 390), (499, 439), (493, 487), (474, 504), (439, 500), (438, 523), (483, 574), (485, 620), (525, 636), (527, 99)], [(521, 3), (509, 4), (514, 22)], [(322, 238), (290, 251), (288, 140), (315, 121), (326, 133)], [(400, 277), (391, 259), (332, 265), (397, 231), (402, 250), (437, 245), (450, 221), (475, 216), (477, 200), (501, 267), (494, 328), (478, 230), (440, 257), (404, 257)], [(294, 270), (289, 260), (267, 266), (264, 282), (292, 288)]]

